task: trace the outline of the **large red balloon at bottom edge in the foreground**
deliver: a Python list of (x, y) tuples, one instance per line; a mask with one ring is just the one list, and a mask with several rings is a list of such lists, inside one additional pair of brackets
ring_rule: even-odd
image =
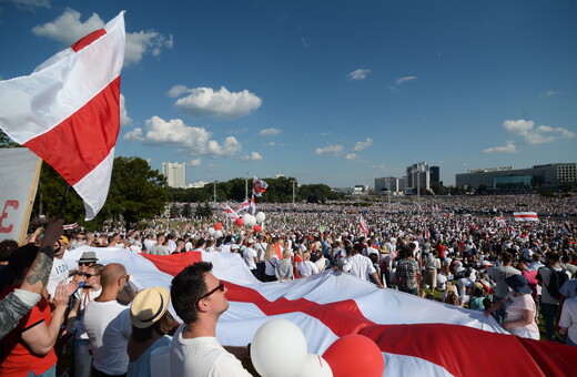
[(345, 335), (324, 353), (334, 377), (381, 377), (385, 359), (378, 346), (363, 335)]

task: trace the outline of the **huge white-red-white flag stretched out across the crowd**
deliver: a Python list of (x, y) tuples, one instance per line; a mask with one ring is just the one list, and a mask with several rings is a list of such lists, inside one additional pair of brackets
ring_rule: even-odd
[[(269, 319), (285, 318), (306, 336), (308, 353), (322, 355), (337, 338), (361, 334), (385, 359), (383, 376), (570, 376), (577, 349), (505, 334), (492, 317), (393, 289), (378, 289), (355, 276), (327, 271), (286, 283), (261, 283), (242, 258), (230, 253), (189, 252), (169, 256), (119, 248), (79, 247), (99, 263), (122, 263), (136, 288), (164, 286), (185, 266), (206, 261), (224, 282), (230, 308), (216, 326), (223, 345), (245, 346)], [(171, 313), (175, 316), (171, 307)], [(178, 318), (178, 317), (176, 317)], [(280, 339), (282, 340), (282, 339)], [(282, 355), (279, 355), (282, 357)], [(498, 370), (498, 371), (496, 371)]]

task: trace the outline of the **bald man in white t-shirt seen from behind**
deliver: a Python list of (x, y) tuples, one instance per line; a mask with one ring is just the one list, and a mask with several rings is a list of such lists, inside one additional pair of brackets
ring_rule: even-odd
[(100, 275), (102, 293), (84, 309), (84, 328), (92, 351), (92, 376), (125, 376), (129, 368), (126, 346), (132, 332), (129, 308), (117, 296), (130, 276), (119, 263), (107, 265)]

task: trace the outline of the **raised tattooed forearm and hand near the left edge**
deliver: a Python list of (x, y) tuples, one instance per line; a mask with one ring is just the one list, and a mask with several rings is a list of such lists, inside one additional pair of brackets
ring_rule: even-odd
[(63, 232), (62, 224), (64, 224), (62, 218), (53, 220), (48, 224), (38, 255), (32, 263), (32, 267), (30, 267), (28, 274), (24, 276), (20, 289), (38, 294), (44, 289), (48, 284), (50, 271), (52, 269), (54, 242)]

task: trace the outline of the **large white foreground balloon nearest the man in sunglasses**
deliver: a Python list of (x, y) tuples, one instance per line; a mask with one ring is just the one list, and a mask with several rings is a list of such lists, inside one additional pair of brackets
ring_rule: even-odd
[(251, 343), (251, 358), (262, 377), (295, 377), (306, 360), (306, 339), (287, 319), (272, 319), (259, 327)]

